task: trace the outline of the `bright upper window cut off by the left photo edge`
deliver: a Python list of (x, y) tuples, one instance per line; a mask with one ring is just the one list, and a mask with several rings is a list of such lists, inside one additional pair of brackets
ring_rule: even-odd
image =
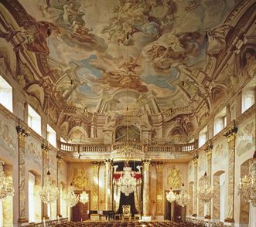
[(0, 97), (0, 103), (12, 112), (12, 86), (2, 76), (0, 76)]

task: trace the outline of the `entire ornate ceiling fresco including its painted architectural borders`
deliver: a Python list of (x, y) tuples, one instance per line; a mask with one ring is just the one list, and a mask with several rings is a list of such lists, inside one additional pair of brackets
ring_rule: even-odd
[(102, 137), (131, 115), (129, 124), (155, 141), (189, 140), (227, 88), (234, 91), (245, 80), (239, 75), (254, 74), (248, 60), (256, 56), (252, 0), (2, 4), (19, 28), (5, 29), (0, 38), (21, 40), (42, 73), (17, 59), (13, 77), (44, 112), (48, 107), (69, 141)]

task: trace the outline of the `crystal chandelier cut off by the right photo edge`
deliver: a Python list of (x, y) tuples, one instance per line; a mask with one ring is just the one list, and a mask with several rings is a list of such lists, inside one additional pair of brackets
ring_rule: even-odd
[(240, 179), (238, 195), (241, 195), (245, 202), (251, 202), (254, 206), (256, 205), (256, 151), (254, 151), (249, 174)]

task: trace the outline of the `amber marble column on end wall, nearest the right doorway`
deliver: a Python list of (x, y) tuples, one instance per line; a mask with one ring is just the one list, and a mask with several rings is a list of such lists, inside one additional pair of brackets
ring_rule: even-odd
[(159, 162), (156, 163), (156, 215), (163, 215), (163, 185), (162, 185), (162, 170), (163, 170), (163, 163)]

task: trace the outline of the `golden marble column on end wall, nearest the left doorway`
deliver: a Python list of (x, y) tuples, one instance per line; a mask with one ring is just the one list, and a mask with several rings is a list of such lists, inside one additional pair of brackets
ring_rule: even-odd
[(92, 186), (92, 201), (90, 203), (91, 210), (99, 209), (99, 167), (100, 167), (100, 164), (97, 161), (92, 162), (93, 186)]

